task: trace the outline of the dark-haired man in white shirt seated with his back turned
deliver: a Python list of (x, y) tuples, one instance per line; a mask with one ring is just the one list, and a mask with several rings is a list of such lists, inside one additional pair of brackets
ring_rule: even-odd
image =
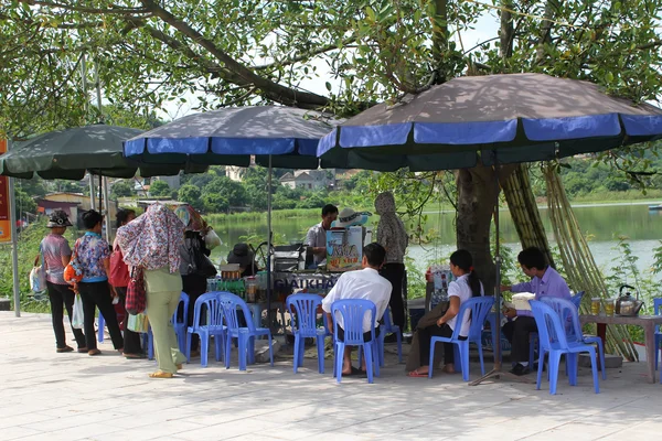
[[(376, 306), (377, 314), (374, 318), (375, 332), (378, 333), (380, 325), (377, 321), (384, 315), (388, 301), (391, 300), (391, 291), (393, 289), (391, 282), (380, 276), (380, 268), (384, 265), (386, 250), (380, 244), (369, 244), (363, 248), (363, 260), (360, 271), (350, 271), (342, 275), (335, 286), (329, 291), (324, 300), (322, 300), (322, 310), (327, 313), (329, 329), (333, 332), (333, 318), (331, 316), (331, 304), (337, 300), (343, 299), (364, 299), (370, 300)], [(363, 340), (372, 338), (370, 314), (363, 318)], [(339, 340), (344, 338), (344, 329), (342, 318), (338, 316), (338, 334)], [(375, 335), (376, 336), (376, 335)], [(351, 347), (345, 347), (342, 375), (351, 375), (355, 373), (352, 368)], [(363, 366), (362, 366), (363, 367)]]

